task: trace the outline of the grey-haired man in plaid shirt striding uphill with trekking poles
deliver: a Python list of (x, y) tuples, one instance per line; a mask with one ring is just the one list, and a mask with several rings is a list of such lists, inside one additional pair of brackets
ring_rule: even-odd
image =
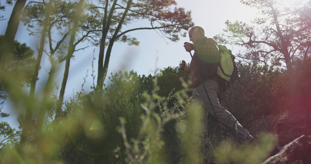
[[(190, 41), (193, 44), (185, 43), (184, 48), (187, 52), (194, 50), (193, 60), (190, 62), (190, 66), (181, 63), (179, 69), (184, 66), (184, 71), (190, 74), (190, 88), (193, 88), (193, 100), (202, 102), (203, 107), (206, 109), (204, 117), (207, 117), (207, 112), (216, 117), (222, 125), (225, 125), (229, 130), (238, 132), (237, 140), (240, 143), (244, 143), (253, 139), (249, 132), (242, 127), (242, 125), (234, 118), (234, 116), (222, 107), (218, 101), (217, 93), (219, 91), (218, 81), (220, 77), (217, 77), (217, 65), (220, 61), (220, 54), (218, 43), (211, 38), (205, 37), (204, 29), (201, 26), (195, 25), (188, 30)], [(204, 86), (207, 90), (208, 96), (211, 100), (214, 111), (211, 107), (211, 103), (208, 100), (207, 94), (203, 88), (203, 84), (199, 78), (199, 74), (194, 66), (196, 64), (199, 69), (199, 73), (203, 79)], [(204, 68), (205, 66), (205, 68)], [(204, 68), (204, 69), (203, 69)], [(208, 70), (209, 72), (204, 72)], [(204, 121), (206, 127), (207, 121)]]

